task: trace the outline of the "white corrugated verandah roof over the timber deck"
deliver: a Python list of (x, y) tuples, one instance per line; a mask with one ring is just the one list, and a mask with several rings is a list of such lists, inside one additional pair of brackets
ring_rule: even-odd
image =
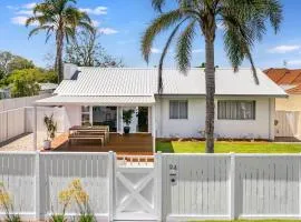
[(65, 105), (65, 104), (87, 104), (87, 105), (142, 105), (153, 104), (153, 95), (143, 97), (69, 97), (55, 95), (36, 101), (37, 105)]

